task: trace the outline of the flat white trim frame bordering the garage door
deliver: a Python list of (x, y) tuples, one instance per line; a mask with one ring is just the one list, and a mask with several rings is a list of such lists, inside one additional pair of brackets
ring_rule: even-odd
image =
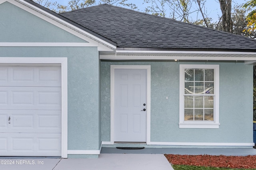
[(0, 57), (0, 66), (61, 66), (61, 157), (68, 157), (68, 59), (66, 57)]

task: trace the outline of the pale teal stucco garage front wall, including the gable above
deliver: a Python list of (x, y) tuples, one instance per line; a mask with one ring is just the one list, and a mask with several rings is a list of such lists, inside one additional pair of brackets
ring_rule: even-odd
[[(0, 42), (71, 42), (79, 37), (8, 2), (0, 4)], [(100, 149), (100, 78), (97, 47), (0, 47), (0, 57), (68, 59), (68, 150)], [(68, 157), (90, 157), (68, 155)]]

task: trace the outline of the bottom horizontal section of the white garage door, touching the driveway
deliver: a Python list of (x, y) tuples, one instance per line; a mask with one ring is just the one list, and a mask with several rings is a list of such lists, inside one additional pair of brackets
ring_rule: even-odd
[(59, 133), (0, 133), (0, 156), (60, 156)]

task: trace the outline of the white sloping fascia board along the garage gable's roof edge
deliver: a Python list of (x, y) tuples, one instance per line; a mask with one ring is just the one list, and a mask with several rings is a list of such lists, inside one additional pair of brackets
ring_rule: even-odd
[[(52, 23), (53, 25), (56, 25), (57, 27), (64, 29), (65, 31), (68, 31), (69, 33), (72, 33), (73, 35), (84, 39), (85, 41), (88, 41), (88, 43), (92, 43), (94, 47), (98, 47), (98, 50), (104, 49), (104, 51), (114, 51), (116, 49), (115, 45), (112, 45), (95, 35), (92, 35), (83, 29), (80, 29), (71, 23), (68, 23), (64, 20), (61, 20), (60, 18), (41, 10), (40, 8), (33, 6), (32, 4), (24, 1), (24, 0), (0, 0), (0, 4), (4, 2), (9, 2), (11, 4), (14, 4), (15, 6), (18, 6), (19, 8), (22, 8), (23, 10), (26, 10), (27, 12), (38, 16), (39, 18), (48, 21), (49, 23)], [(86, 46), (89, 47), (89, 46)], [(107, 47), (108, 49), (106, 49)]]

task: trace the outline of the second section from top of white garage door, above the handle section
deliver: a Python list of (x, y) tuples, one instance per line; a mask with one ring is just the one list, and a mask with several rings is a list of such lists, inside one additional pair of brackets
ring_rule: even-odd
[(0, 87), (1, 109), (61, 109), (60, 87)]

